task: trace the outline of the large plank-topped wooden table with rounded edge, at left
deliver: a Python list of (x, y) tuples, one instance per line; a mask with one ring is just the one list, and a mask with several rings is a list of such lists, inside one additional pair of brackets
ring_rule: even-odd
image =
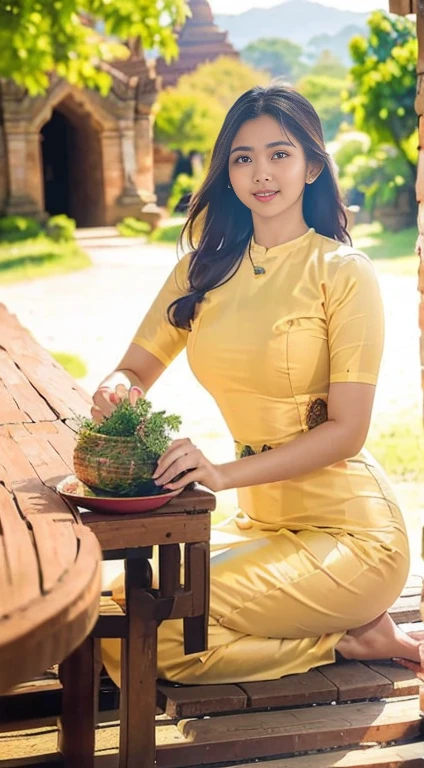
[(52, 490), (88, 409), (0, 305), (0, 692), (65, 658), (97, 619), (99, 544)]

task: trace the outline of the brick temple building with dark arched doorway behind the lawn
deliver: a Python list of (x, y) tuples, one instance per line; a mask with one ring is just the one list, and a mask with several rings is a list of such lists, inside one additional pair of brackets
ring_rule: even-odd
[(56, 75), (36, 97), (1, 83), (0, 216), (66, 213), (81, 227), (140, 217), (143, 209), (149, 218), (160, 81), (140, 52), (103, 66), (112, 76), (105, 97)]

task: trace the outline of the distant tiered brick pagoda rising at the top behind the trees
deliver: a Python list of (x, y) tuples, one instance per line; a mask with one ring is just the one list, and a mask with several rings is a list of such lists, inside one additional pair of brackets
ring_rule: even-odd
[(163, 88), (176, 85), (181, 75), (193, 72), (200, 64), (220, 56), (238, 58), (239, 55), (227, 40), (228, 32), (222, 32), (214, 24), (207, 0), (190, 0), (188, 4), (192, 15), (178, 35), (178, 59), (171, 64), (166, 64), (162, 58), (156, 62)]

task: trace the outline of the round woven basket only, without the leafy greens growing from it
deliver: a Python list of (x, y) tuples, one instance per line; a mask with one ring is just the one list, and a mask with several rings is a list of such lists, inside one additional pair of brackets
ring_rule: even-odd
[(74, 450), (79, 480), (120, 496), (143, 495), (152, 487), (156, 459), (146, 456), (135, 437), (84, 434)]

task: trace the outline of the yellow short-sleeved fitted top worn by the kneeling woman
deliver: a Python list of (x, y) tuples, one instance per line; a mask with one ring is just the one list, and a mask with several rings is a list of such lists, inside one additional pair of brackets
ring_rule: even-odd
[[(235, 275), (206, 294), (187, 332), (173, 328), (166, 316), (171, 301), (186, 293), (184, 257), (134, 341), (165, 364), (186, 345), (193, 373), (216, 400), (234, 440), (256, 451), (324, 420), (331, 382), (377, 382), (384, 321), (373, 265), (352, 247), (310, 229), (269, 249), (252, 240), (251, 258), (265, 273), (254, 275), (246, 251)], [(284, 486), (284, 507), (297, 506), (297, 513), (305, 507), (306, 478), (300, 485), (294, 480), (241, 489), (251, 517), (269, 522), (270, 515), (281, 515), (277, 486)], [(316, 510), (316, 485), (314, 504)]]

